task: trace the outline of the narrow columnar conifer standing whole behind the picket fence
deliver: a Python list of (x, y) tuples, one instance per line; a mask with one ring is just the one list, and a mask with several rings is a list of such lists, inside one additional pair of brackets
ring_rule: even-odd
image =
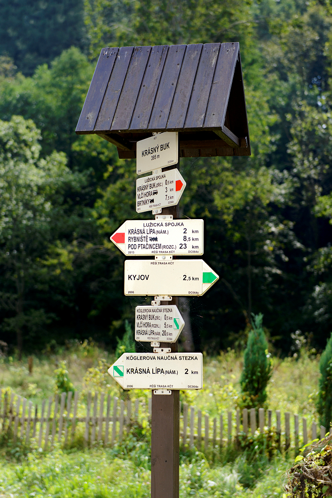
[(265, 408), (266, 387), (272, 375), (272, 359), (263, 330), (263, 315), (252, 314), (252, 330), (244, 351), (243, 370), (240, 377), (240, 408)]

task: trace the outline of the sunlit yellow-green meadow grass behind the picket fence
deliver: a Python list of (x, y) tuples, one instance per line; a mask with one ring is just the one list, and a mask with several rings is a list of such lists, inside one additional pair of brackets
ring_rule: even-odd
[[(101, 362), (101, 359), (103, 361)], [(11, 387), (16, 394), (41, 403), (54, 394), (54, 370), (66, 362), (74, 388), (104, 390), (112, 395), (120, 393), (118, 384), (107, 373), (115, 361), (113, 355), (100, 350), (92, 342), (74, 343), (69, 348), (57, 349), (48, 355), (33, 357), (33, 371), (28, 372), (27, 359), (0, 358), (0, 388)], [(233, 409), (239, 393), (242, 358), (228, 350), (218, 357), (204, 357), (204, 389), (182, 391), (184, 402), (216, 416), (221, 410)], [(316, 417), (315, 399), (318, 389), (319, 357), (309, 357), (303, 351), (298, 358), (274, 359), (274, 370), (268, 386), (268, 406), (272, 410), (290, 411), (310, 419)], [(131, 390), (130, 395), (142, 396), (141, 390)], [(146, 396), (147, 393), (144, 393)]]

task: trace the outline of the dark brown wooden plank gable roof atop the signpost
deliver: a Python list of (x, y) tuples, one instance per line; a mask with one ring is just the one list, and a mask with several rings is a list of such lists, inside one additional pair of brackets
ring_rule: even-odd
[(76, 133), (136, 156), (136, 142), (178, 131), (180, 157), (250, 155), (238, 43), (103, 48)]

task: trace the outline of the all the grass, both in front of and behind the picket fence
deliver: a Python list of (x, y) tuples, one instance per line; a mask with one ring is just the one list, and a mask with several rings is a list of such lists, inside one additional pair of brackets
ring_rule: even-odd
[[(120, 395), (108, 375), (114, 356), (91, 341), (55, 347), (33, 357), (32, 373), (27, 358), (0, 358), (0, 388), (10, 387), (17, 394), (41, 404), (54, 394), (54, 370), (61, 362), (74, 387), (84, 397), (88, 390)], [(204, 357), (204, 389), (182, 391), (183, 402), (210, 416), (233, 409), (239, 394), (242, 358), (228, 350), (218, 357)], [(268, 406), (298, 413), (318, 421), (315, 397), (318, 388), (319, 357), (305, 351), (298, 358), (274, 359), (268, 387)], [(148, 391), (132, 390), (130, 396), (146, 397)], [(81, 397), (82, 397), (81, 396)], [(301, 434), (300, 434), (301, 438)], [(301, 440), (301, 439), (300, 439)], [(3, 449), (2, 449), (3, 450)], [(2, 455), (2, 456), (1, 456)], [(207, 459), (208, 458), (208, 459)], [(217, 459), (198, 452), (181, 454), (180, 497), (283, 497), (285, 471), (292, 465), (289, 456), (277, 454), (269, 461), (257, 446), (244, 452), (228, 447)], [(125, 478), (124, 478), (125, 477)], [(122, 445), (110, 449), (76, 448), (50, 453), (21, 452), (19, 448), (0, 453), (0, 498), (140, 498), (150, 496), (150, 434), (129, 435)]]

